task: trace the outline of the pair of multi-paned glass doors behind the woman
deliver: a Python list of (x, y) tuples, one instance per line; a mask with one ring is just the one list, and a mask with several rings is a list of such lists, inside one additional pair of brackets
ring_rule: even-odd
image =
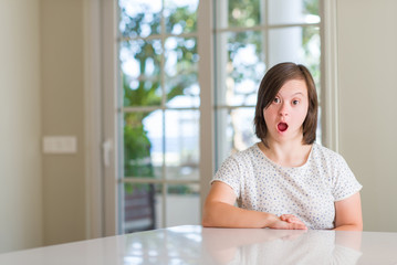
[(320, 88), (321, 1), (103, 3), (106, 234), (199, 224), (215, 169), (258, 141), (265, 71), (303, 63)]

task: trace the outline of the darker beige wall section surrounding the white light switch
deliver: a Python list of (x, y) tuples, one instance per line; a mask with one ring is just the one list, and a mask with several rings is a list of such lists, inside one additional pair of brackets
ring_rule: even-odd
[(43, 156), (44, 245), (86, 239), (83, 0), (40, 0), (43, 136), (74, 136), (77, 152)]

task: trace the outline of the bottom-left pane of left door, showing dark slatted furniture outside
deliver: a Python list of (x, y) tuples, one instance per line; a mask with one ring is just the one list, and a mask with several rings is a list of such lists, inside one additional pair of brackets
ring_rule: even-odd
[(124, 184), (124, 233), (154, 230), (161, 223), (160, 184)]

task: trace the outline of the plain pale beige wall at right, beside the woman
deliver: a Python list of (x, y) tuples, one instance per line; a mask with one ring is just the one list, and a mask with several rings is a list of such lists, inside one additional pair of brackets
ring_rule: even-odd
[(397, 1), (338, 0), (339, 151), (364, 230), (397, 232)]

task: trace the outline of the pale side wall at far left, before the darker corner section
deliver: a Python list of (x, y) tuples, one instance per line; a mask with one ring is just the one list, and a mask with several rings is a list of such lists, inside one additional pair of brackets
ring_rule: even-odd
[(39, 0), (0, 0), (0, 253), (42, 244)]

